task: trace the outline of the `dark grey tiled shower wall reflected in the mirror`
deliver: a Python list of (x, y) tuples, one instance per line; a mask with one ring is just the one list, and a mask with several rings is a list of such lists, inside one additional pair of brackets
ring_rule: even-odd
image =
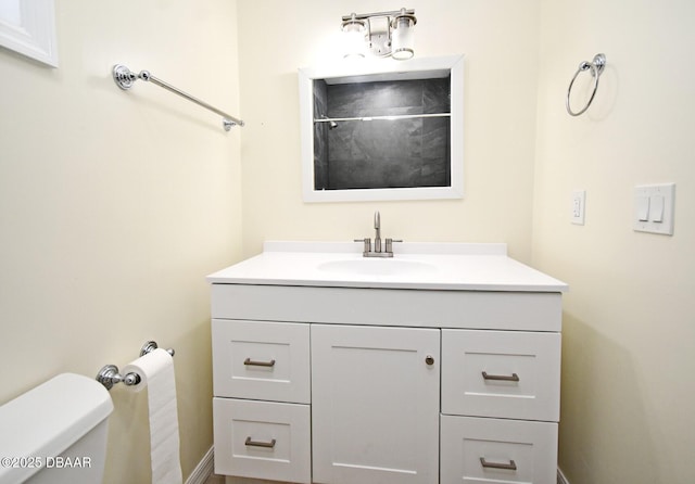
[[(317, 117), (451, 113), (448, 78), (316, 81), (314, 95)], [(451, 186), (448, 117), (338, 122), (330, 130), (317, 125), (316, 189)]]

